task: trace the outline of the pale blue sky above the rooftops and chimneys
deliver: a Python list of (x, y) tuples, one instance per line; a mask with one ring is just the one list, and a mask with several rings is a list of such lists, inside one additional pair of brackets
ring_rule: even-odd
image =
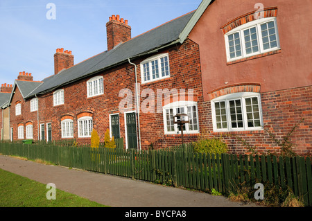
[[(47, 19), (55, 4), (55, 19)], [(34, 80), (53, 75), (56, 48), (72, 51), (78, 64), (107, 50), (112, 15), (127, 19), (132, 37), (196, 10), (201, 0), (0, 0), (0, 84), (13, 84), (19, 72)], [(49, 14), (49, 13), (48, 13)]]

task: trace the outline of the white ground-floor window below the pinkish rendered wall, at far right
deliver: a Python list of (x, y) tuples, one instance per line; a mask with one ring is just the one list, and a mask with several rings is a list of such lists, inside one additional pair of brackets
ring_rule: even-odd
[(214, 132), (262, 130), (259, 93), (240, 92), (211, 100)]

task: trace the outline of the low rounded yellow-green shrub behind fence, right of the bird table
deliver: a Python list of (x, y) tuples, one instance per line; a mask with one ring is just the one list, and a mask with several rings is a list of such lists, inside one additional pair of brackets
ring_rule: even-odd
[(220, 139), (200, 139), (193, 142), (194, 152), (221, 154), (227, 152), (227, 144)]

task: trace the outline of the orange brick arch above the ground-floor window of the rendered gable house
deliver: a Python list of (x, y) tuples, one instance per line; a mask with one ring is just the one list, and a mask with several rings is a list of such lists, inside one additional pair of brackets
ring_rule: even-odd
[(221, 87), (219, 89), (215, 89), (214, 91), (209, 91), (210, 100), (214, 98), (218, 98), (219, 96), (233, 94), (238, 92), (256, 92), (260, 93), (260, 84), (258, 83), (241, 83), (235, 85), (227, 85), (225, 87)]

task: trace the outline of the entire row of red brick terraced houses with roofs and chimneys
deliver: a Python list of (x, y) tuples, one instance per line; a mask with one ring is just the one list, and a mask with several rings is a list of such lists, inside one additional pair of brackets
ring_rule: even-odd
[(108, 128), (125, 148), (163, 148), (180, 144), (173, 116), (184, 113), (184, 142), (223, 136), (248, 152), (239, 136), (266, 152), (279, 147), (263, 126), (282, 139), (304, 118), (291, 142), (311, 153), (311, 3), (257, 2), (204, 0), (137, 37), (113, 15), (107, 51), (74, 64), (58, 48), (53, 76), (2, 85), (1, 139), (89, 143)]

